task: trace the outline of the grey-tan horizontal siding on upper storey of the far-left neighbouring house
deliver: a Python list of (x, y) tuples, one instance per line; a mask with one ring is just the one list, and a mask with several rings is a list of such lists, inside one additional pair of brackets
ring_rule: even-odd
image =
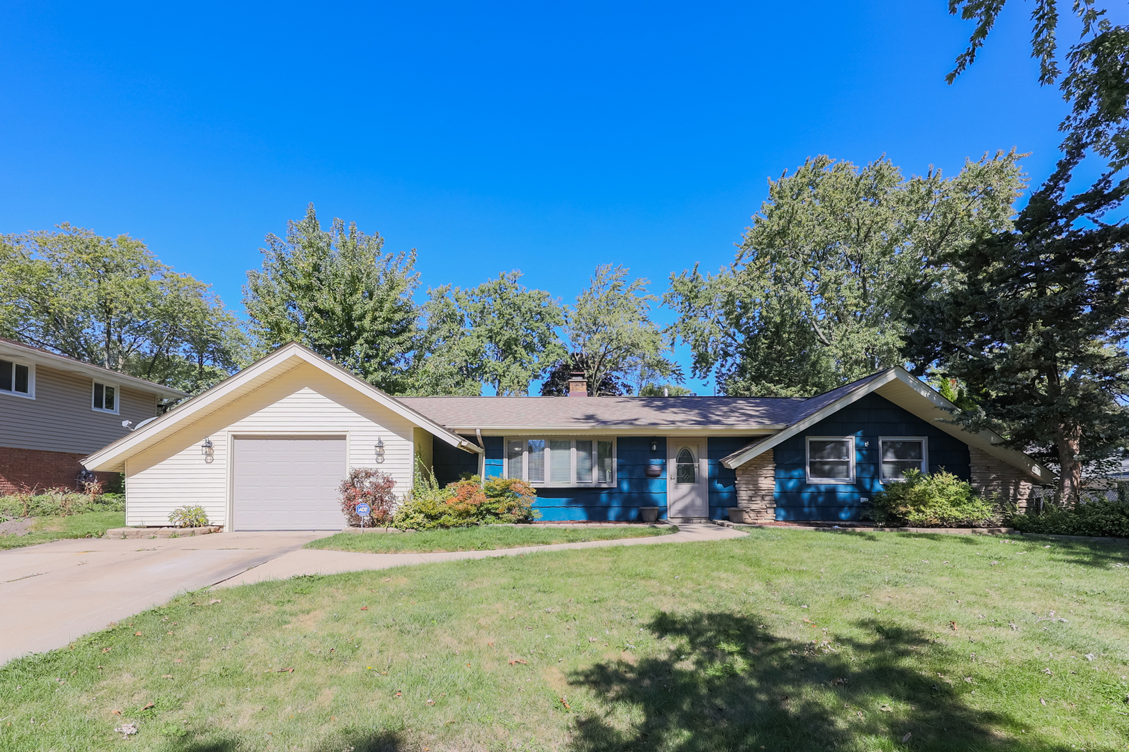
[[(110, 379), (107, 378), (107, 381)], [(157, 395), (119, 387), (119, 413), (91, 408), (90, 377), (36, 364), (35, 399), (0, 393), (0, 446), (89, 454), (157, 415)]]

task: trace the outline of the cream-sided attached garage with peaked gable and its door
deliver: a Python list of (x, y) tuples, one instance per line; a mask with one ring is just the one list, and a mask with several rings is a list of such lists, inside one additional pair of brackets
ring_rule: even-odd
[(352, 468), (376, 468), (412, 488), (432, 439), (482, 448), (297, 344), (84, 460), (125, 474), (125, 524), (160, 527), (201, 506), (226, 531), (341, 530), (339, 488)]

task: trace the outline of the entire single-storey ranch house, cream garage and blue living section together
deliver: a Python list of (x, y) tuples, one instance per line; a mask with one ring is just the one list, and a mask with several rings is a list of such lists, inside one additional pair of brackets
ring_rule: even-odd
[(85, 460), (124, 472), (126, 524), (200, 504), (226, 530), (338, 529), (338, 486), (376, 467), (408, 493), (523, 478), (542, 519), (855, 520), (907, 470), (946, 469), (1018, 505), (1052, 474), (952, 423), (902, 369), (812, 397), (392, 397), (296, 344)]

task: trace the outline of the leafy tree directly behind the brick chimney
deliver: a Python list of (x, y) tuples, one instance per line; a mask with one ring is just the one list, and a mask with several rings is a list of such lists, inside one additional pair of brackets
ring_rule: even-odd
[(570, 355), (553, 369), (554, 378), (542, 387), (543, 395), (557, 393), (562, 375), (567, 391), (567, 374), (574, 370), (584, 372), (588, 393), (594, 396), (630, 391), (627, 384), (639, 373), (648, 381), (682, 379), (667, 356), (667, 337), (650, 319), (658, 297), (647, 292), (650, 282), (646, 278), (629, 282), (628, 272), (623, 266), (597, 266), (590, 286), (568, 307), (564, 334)]

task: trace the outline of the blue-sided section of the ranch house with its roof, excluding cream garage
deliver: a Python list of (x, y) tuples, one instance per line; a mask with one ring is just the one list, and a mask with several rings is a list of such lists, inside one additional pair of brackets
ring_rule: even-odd
[(523, 478), (546, 521), (726, 517), (857, 520), (909, 469), (945, 469), (1025, 504), (1052, 475), (894, 368), (808, 399), (765, 397), (402, 397), (483, 451), (434, 439), (440, 484), (463, 474)]

